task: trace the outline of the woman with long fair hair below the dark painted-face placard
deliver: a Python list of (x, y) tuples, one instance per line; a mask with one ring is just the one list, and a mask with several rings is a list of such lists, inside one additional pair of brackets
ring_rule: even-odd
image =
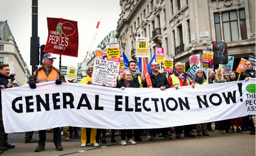
[[(214, 83), (224, 83), (224, 82), (230, 82), (228, 75), (226, 74), (225, 69), (218, 68)], [(219, 123), (219, 134), (232, 133), (232, 131), (230, 130), (229, 119), (218, 121), (218, 123)]]

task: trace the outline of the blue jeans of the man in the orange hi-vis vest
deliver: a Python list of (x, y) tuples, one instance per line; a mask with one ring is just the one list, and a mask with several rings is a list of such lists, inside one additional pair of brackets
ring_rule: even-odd
[[(45, 146), (46, 141), (46, 130), (39, 130), (38, 146)], [(61, 145), (61, 130), (59, 127), (53, 129), (53, 143), (55, 146)]]

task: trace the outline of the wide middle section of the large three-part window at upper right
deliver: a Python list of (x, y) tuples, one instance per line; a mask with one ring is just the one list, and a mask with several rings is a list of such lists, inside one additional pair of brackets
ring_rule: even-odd
[(238, 41), (238, 24), (237, 24), (237, 11), (227, 11), (222, 14), (222, 26), (223, 26), (223, 35), (224, 41)]

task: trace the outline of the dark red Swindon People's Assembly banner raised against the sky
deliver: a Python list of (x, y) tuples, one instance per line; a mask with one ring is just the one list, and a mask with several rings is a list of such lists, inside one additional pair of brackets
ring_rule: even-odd
[(77, 22), (63, 18), (47, 17), (48, 39), (44, 52), (78, 56), (78, 29)]

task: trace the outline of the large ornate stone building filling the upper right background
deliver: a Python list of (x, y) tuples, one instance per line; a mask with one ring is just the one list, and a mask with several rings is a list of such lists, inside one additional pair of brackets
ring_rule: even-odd
[[(186, 62), (189, 57), (211, 50), (212, 41), (228, 43), (234, 56), (233, 70), (248, 53), (255, 55), (255, 0), (120, 0), (116, 35), (120, 51), (135, 57), (135, 37), (149, 38), (148, 62), (155, 47), (165, 57)], [(202, 65), (202, 63), (201, 63)]]

